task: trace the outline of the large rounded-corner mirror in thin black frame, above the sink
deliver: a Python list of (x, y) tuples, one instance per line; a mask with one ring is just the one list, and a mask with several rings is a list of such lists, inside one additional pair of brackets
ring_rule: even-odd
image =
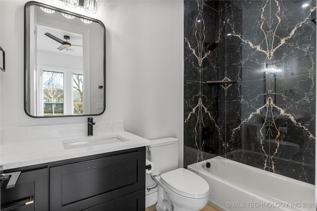
[(31, 117), (105, 111), (105, 26), (30, 1), (24, 7), (24, 108)]

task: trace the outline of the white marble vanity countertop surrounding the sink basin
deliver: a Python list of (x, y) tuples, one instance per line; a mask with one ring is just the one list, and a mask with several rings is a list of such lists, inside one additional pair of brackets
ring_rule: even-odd
[[(65, 140), (89, 138), (97, 139), (109, 135), (119, 135), (127, 141), (107, 143), (74, 149), (64, 149)], [(97, 155), (125, 149), (132, 149), (150, 145), (152, 141), (126, 132), (124, 130), (110, 131), (93, 136), (67, 135), (62, 137), (27, 140), (27, 141), (4, 141), (0, 145), (0, 165), (5, 169), (14, 169), (55, 161)]]

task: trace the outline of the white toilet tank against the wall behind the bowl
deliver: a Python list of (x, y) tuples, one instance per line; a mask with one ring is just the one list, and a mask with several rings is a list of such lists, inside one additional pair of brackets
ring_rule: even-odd
[(146, 158), (154, 164), (151, 175), (159, 175), (178, 168), (178, 139), (159, 138), (147, 146)]

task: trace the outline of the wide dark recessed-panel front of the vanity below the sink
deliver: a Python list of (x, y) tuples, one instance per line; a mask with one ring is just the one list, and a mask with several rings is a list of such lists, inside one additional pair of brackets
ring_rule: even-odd
[(84, 210), (144, 188), (145, 150), (52, 167), (50, 209)]

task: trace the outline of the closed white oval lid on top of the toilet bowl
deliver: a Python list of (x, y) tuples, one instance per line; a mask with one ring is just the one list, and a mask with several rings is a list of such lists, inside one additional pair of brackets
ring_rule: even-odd
[(171, 191), (188, 198), (209, 196), (209, 184), (198, 174), (187, 169), (175, 169), (162, 173), (160, 181)]

